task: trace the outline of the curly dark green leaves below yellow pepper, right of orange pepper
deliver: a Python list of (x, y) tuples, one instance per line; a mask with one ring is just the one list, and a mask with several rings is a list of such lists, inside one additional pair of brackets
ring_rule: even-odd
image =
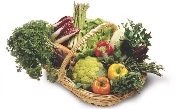
[(134, 90), (138, 91), (139, 88), (142, 88), (142, 82), (141, 73), (128, 72), (121, 78), (110, 80), (111, 93), (124, 95)]

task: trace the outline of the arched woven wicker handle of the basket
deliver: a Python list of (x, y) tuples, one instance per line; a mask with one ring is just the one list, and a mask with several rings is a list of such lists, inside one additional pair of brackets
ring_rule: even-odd
[(60, 70), (58, 72), (58, 80), (60, 81), (62, 79), (62, 77), (64, 75), (66, 75), (66, 71), (65, 71), (65, 67), (68, 64), (68, 62), (70, 61), (72, 55), (77, 51), (77, 49), (84, 43), (86, 42), (86, 40), (88, 38), (90, 38), (93, 34), (97, 33), (98, 31), (100, 31), (101, 29), (105, 28), (105, 27), (112, 27), (113, 31), (116, 31), (118, 29), (118, 27), (113, 24), (113, 23), (103, 23), (101, 25), (98, 25), (95, 29), (92, 29), (89, 33), (87, 33), (85, 36), (83, 36), (81, 38), (81, 40), (79, 40), (77, 42), (77, 44), (71, 49), (71, 51), (68, 53), (68, 55), (65, 57), (63, 63), (61, 64)]

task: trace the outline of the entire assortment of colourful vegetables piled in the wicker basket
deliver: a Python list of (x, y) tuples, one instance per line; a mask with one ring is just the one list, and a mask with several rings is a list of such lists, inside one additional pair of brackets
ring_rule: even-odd
[[(72, 47), (92, 29), (108, 23), (101, 18), (87, 19), (89, 4), (74, 3), (73, 16), (63, 16), (56, 23), (32, 20), (14, 29), (7, 40), (7, 50), (16, 57), (17, 70), (22, 69), (33, 79), (40, 80), (42, 68), (47, 79), (56, 82), (57, 70)], [(147, 63), (151, 33), (142, 23), (128, 22), (113, 31), (105, 27), (91, 36), (73, 54), (66, 66), (66, 75), (75, 83), (96, 94), (121, 94), (142, 88), (142, 75), (158, 76), (163, 66)], [(124, 31), (124, 32), (123, 32)]]

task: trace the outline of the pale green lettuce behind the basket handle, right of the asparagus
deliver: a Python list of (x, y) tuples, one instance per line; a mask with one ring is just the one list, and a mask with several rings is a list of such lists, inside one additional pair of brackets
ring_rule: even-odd
[[(98, 25), (105, 23), (107, 21), (97, 18), (97, 19), (89, 19), (86, 21), (83, 29), (80, 31), (82, 36), (89, 33), (92, 29), (96, 28)], [(103, 28), (93, 36), (87, 39), (87, 41), (77, 50), (77, 56), (74, 58), (74, 61), (77, 62), (81, 58), (85, 58), (87, 56), (95, 56), (94, 49), (97, 46), (97, 43), (101, 40), (110, 40), (113, 34), (112, 28)]]

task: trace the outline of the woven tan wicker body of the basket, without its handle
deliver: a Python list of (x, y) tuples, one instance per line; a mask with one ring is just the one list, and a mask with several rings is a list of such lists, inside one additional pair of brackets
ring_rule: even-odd
[[(145, 84), (146, 78), (147, 78), (147, 73), (143, 73), (142, 85)], [(141, 88), (139, 88), (138, 90), (132, 90), (124, 95), (121, 94), (102, 95), (102, 94), (96, 94), (91, 91), (87, 91), (83, 88), (74, 88), (75, 83), (66, 75), (63, 76), (63, 80), (61, 81), (57, 80), (56, 82), (64, 86), (66, 89), (68, 89), (68, 91), (73, 93), (73, 95), (77, 96), (82, 101), (100, 107), (108, 107), (108, 106), (113, 106), (115, 104), (121, 103), (122, 101), (132, 97), (133, 95), (135, 95), (137, 92), (141, 90)]]

